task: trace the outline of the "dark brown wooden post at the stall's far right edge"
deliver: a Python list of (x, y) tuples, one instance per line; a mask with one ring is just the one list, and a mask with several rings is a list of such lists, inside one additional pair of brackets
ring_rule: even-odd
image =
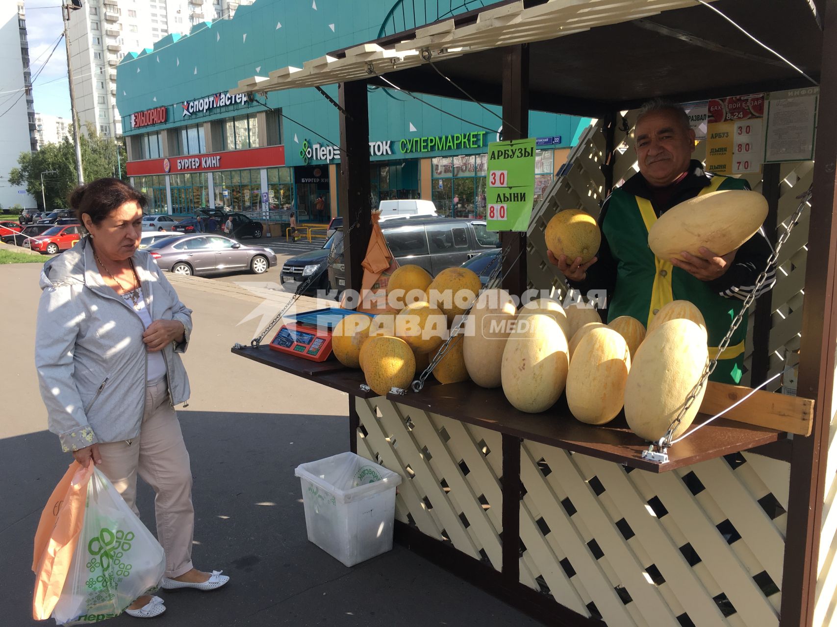
[[(827, 1), (825, 13), (819, 110), (832, 111), (837, 108), (837, 0)], [(819, 120), (814, 162), (797, 391), (816, 400), (816, 405), (811, 435), (793, 440), (781, 627), (809, 627), (814, 622), (837, 344), (837, 120), (833, 117), (826, 115)]]

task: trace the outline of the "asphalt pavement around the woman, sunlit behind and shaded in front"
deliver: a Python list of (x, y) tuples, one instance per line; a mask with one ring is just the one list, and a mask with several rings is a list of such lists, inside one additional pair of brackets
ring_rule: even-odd
[[(69, 464), (46, 431), (33, 367), (37, 264), (0, 266), (3, 294), (3, 416), (0, 458), (0, 624), (28, 627), (32, 540), (40, 512)], [(264, 275), (258, 278), (264, 280)], [(211, 594), (163, 592), (167, 612), (149, 624), (178, 625), (491, 625), (537, 624), (470, 584), (396, 547), (346, 568), (306, 538), (300, 463), (347, 451), (348, 397), (229, 352), (253, 337), (264, 311), (256, 278), (241, 287), (176, 278), (193, 308), (184, 356), (192, 399), (178, 407), (194, 477), (193, 559), (230, 583)], [(276, 294), (276, 298), (288, 298)], [(313, 299), (304, 306), (314, 307)], [(257, 315), (244, 324), (256, 311)], [(153, 493), (140, 482), (138, 506), (154, 530)], [(463, 556), (463, 559), (466, 559)], [(133, 622), (132, 622), (133, 621)], [(51, 624), (51, 623), (50, 623)], [(120, 616), (109, 624), (136, 624)]]

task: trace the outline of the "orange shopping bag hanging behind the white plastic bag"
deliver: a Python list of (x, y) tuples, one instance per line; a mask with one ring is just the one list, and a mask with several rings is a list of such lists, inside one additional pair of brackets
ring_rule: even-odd
[(73, 461), (41, 513), (32, 558), (32, 570), (37, 576), (32, 599), (32, 616), (36, 620), (49, 618), (64, 589), (85, 520), (87, 484), (92, 474), (92, 462), (85, 468)]

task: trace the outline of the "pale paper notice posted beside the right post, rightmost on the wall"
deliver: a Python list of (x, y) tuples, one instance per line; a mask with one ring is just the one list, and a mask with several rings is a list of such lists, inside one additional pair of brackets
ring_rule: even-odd
[(814, 159), (819, 87), (768, 94), (764, 162)]

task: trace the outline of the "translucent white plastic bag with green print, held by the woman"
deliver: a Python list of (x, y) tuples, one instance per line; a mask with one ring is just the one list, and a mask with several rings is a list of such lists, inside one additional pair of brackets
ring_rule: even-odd
[(121, 614), (137, 597), (157, 589), (166, 556), (116, 488), (95, 468), (69, 574), (53, 618), (86, 624)]

